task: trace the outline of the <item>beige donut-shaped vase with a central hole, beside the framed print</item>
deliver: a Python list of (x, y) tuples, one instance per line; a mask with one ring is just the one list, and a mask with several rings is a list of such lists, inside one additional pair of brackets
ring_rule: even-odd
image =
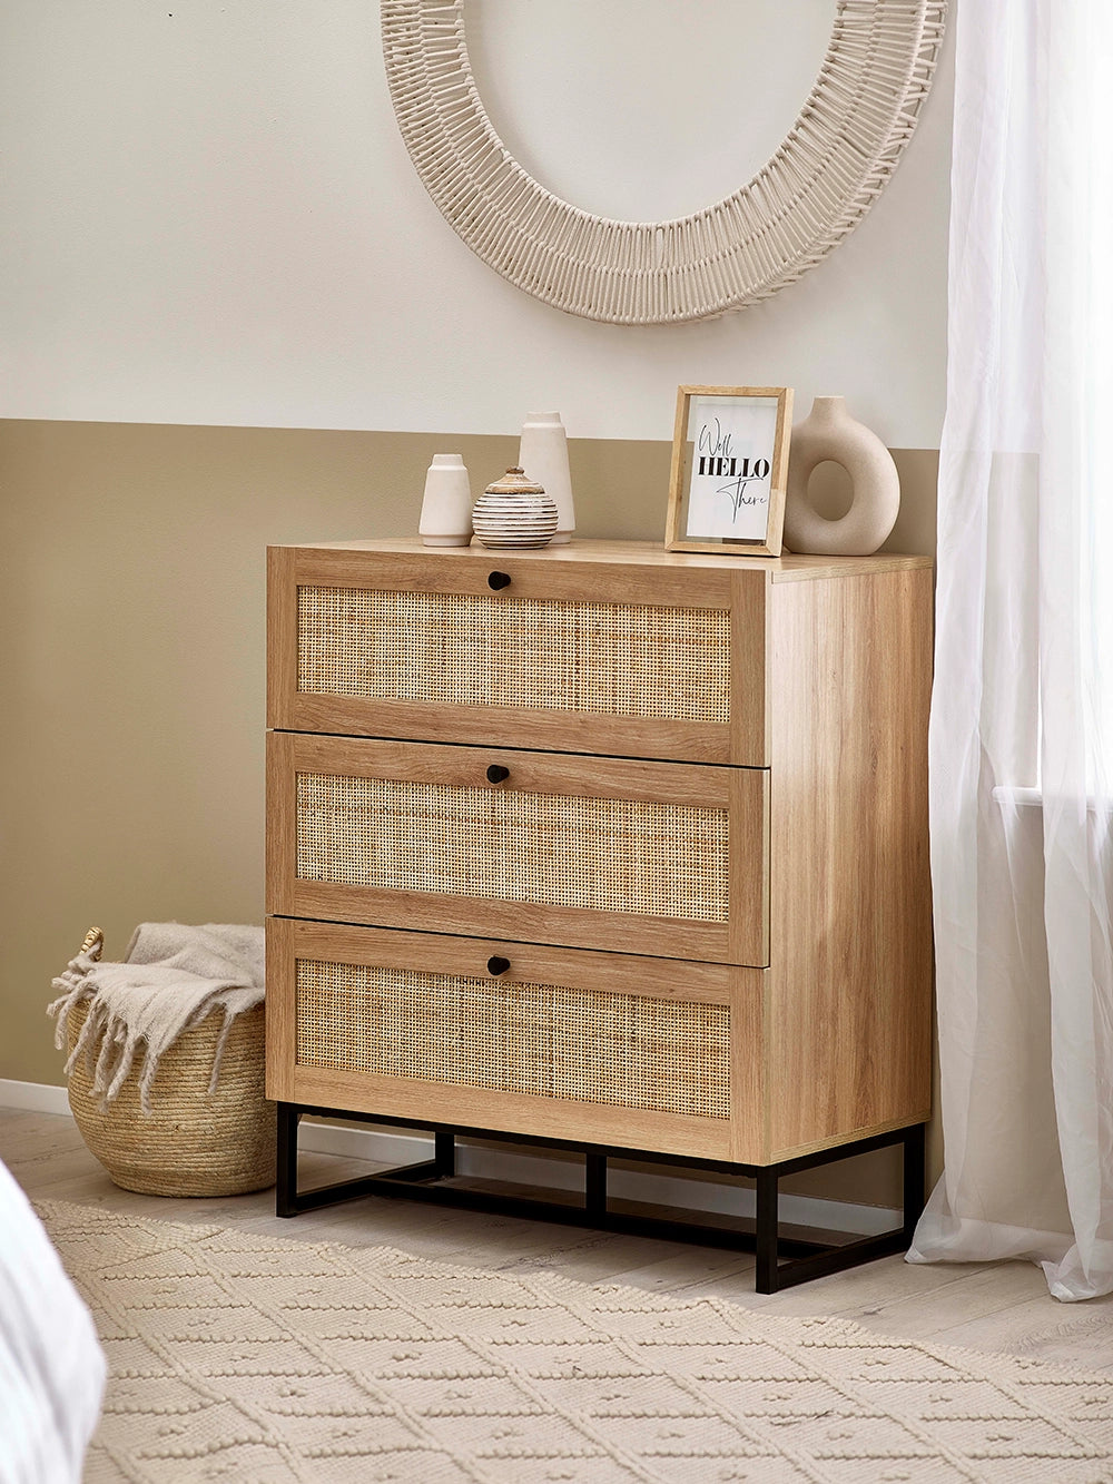
[[(850, 509), (828, 521), (812, 505), (807, 484), (816, 464), (841, 464), (850, 476)], [(792, 429), (785, 491), (785, 546), (821, 556), (868, 556), (896, 524), (901, 479), (877, 433), (856, 423), (841, 396), (818, 396)]]

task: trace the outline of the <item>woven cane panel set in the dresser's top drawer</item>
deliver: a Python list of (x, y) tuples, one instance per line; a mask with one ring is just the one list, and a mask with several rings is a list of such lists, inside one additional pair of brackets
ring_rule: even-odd
[(730, 614), (298, 588), (298, 690), (727, 721)]

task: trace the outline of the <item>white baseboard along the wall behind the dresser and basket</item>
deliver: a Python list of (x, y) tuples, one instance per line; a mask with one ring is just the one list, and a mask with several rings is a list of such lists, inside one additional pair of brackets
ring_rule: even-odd
[[(27, 1113), (70, 1113), (65, 1088), (43, 1082), (12, 1082), (0, 1077), (0, 1107)], [(375, 1165), (416, 1165), (432, 1155), (432, 1137), (421, 1134), (389, 1134), (374, 1128), (337, 1128), (303, 1119), (298, 1147), (306, 1153), (343, 1155)], [(515, 1149), (487, 1149), (457, 1144), (456, 1168), (462, 1175), (502, 1180), (524, 1186), (548, 1186), (554, 1190), (582, 1190), (583, 1166), (574, 1159), (546, 1159)], [(646, 1174), (635, 1169), (608, 1169), (607, 1192), (619, 1201), (644, 1201), (649, 1205), (678, 1206), (717, 1215), (754, 1215), (754, 1192), (715, 1180), (684, 1180), (668, 1174)], [(852, 1205), (844, 1201), (821, 1201), (816, 1196), (784, 1195), (779, 1202), (781, 1220), (794, 1226), (818, 1226), (831, 1232), (859, 1232), (874, 1236), (899, 1224), (901, 1212), (886, 1206)]]

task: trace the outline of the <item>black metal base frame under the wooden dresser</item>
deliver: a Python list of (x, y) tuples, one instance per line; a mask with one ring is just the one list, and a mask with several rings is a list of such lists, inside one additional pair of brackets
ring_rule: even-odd
[[(313, 1190), (298, 1190), (298, 1123), (303, 1114), (316, 1117), (355, 1119), (364, 1123), (381, 1123), (401, 1128), (426, 1129), (433, 1134), (433, 1158), (417, 1165), (384, 1169), (358, 1180), (341, 1180)], [(583, 1155), (585, 1180), (583, 1204), (564, 1205), (503, 1192), (479, 1190), (472, 1186), (450, 1184), (456, 1175), (457, 1135), (482, 1140), (503, 1140), (513, 1144), (531, 1144), (545, 1149), (561, 1149)], [(904, 1149), (904, 1206), (902, 1224), (873, 1236), (853, 1236), (833, 1241), (831, 1232), (782, 1227), (779, 1218), (779, 1183), (785, 1175), (819, 1165), (835, 1163), (855, 1155), (867, 1155), (874, 1149), (901, 1144)], [(697, 1221), (677, 1220), (675, 1214), (644, 1215), (614, 1209), (607, 1199), (607, 1160), (628, 1159), (640, 1163), (663, 1163), (684, 1169), (703, 1169), (708, 1174), (743, 1175), (755, 1181), (755, 1217), (742, 1217), (732, 1226), (702, 1226)], [(838, 1273), (877, 1257), (887, 1257), (908, 1248), (913, 1230), (925, 1202), (925, 1125), (874, 1134), (835, 1149), (821, 1149), (795, 1159), (782, 1159), (775, 1165), (739, 1165), (715, 1159), (693, 1159), (681, 1155), (660, 1155), (644, 1149), (611, 1149), (603, 1144), (580, 1144), (570, 1140), (537, 1138), (527, 1134), (506, 1134), (487, 1128), (460, 1128), (456, 1125), (426, 1123), (413, 1117), (387, 1117), (371, 1113), (352, 1113), (347, 1109), (309, 1107), (300, 1103), (278, 1104), (278, 1198), (276, 1212), (280, 1217), (315, 1211), (340, 1201), (358, 1201), (362, 1196), (405, 1196), (413, 1201), (432, 1201), (441, 1205), (466, 1206), (473, 1211), (493, 1211), (500, 1215), (518, 1215), (559, 1221), (568, 1226), (595, 1227), (603, 1232), (625, 1232), (635, 1236), (666, 1238), (677, 1242), (693, 1242), (702, 1247), (724, 1247), (757, 1254), (754, 1288), (760, 1294), (778, 1293), (792, 1284), (803, 1284), (827, 1273)], [(666, 1208), (671, 1211), (671, 1208)]]

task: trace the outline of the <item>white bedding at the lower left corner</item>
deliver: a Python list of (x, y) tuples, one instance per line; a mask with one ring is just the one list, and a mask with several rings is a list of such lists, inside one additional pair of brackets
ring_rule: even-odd
[(0, 1163), (0, 1484), (77, 1484), (104, 1374), (89, 1310)]

